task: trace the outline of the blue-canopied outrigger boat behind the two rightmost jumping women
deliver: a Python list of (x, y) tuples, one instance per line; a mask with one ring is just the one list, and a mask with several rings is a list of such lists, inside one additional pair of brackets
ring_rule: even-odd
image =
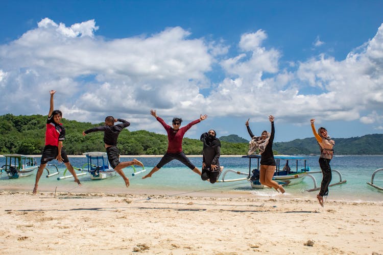
[[(222, 180), (219, 180), (218, 182), (235, 182), (235, 181), (241, 181), (241, 180), (248, 180), (252, 188), (258, 188), (258, 189), (264, 188), (264, 185), (260, 184), (259, 182), (260, 155), (246, 155), (246, 156), (242, 156), (242, 158), (249, 159), (249, 172), (245, 173), (241, 171), (227, 169), (222, 174)], [(252, 159), (257, 159), (257, 168), (252, 169), (251, 167)], [(310, 171), (310, 167), (307, 166), (306, 164), (307, 157), (277, 155), (277, 156), (274, 156), (274, 159), (276, 162), (276, 170), (273, 176), (273, 181), (283, 186), (288, 186), (288, 185), (298, 184), (302, 182), (305, 179), (305, 177), (310, 177), (310, 179), (312, 179), (314, 182), (314, 188), (308, 189), (305, 191), (310, 192), (310, 191), (315, 191), (320, 189), (320, 187), (317, 187), (317, 182), (315, 180), (315, 177), (312, 174), (321, 173), (321, 171)], [(292, 162), (295, 162), (295, 164), (293, 164), (294, 167), (290, 167), (290, 165), (292, 165)], [(342, 181), (342, 174), (338, 170), (332, 169), (331, 171), (339, 174), (340, 181), (337, 183), (332, 183), (329, 186), (346, 183), (346, 180)], [(225, 179), (225, 175), (229, 172), (233, 172), (240, 175), (246, 175), (247, 177), (243, 177), (240, 179), (227, 180)]]

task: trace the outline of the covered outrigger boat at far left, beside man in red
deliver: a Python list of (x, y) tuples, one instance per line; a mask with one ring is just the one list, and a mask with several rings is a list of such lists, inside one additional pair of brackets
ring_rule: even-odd
[(33, 157), (21, 154), (6, 154), (4, 157), (6, 163), (1, 167), (0, 174), (6, 172), (9, 179), (30, 176), (39, 167)]

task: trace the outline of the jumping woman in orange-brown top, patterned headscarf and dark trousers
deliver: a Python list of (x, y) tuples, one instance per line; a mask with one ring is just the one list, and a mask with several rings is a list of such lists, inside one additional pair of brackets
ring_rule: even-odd
[(331, 137), (327, 134), (327, 130), (324, 127), (319, 127), (318, 133), (315, 131), (314, 121), (311, 119), (311, 127), (313, 134), (318, 141), (319, 147), (321, 149), (321, 156), (319, 157), (319, 166), (321, 167), (323, 173), (323, 179), (321, 183), (321, 190), (317, 195), (320, 205), (323, 207), (323, 196), (328, 195), (328, 185), (331, 182), (331, 167), (330, 161), (333, 155), (333, 147), (335, 142), (331, 140)]

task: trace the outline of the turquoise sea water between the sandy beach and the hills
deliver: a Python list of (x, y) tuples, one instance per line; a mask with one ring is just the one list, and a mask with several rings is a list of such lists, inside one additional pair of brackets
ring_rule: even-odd
[[(307, 165), (311, 171), (320, 171), (318, 164), (319, 156), (308, 156)], [(133, 158), (122, 157), (121, 161), (129, 161)], [(245, 181), (216, 183), (210, 184), (203, 182), (200, 176), (189, 168), (185, 167), (178, 161), (172, 161), (165, 165), (158, 172), (154, 173), (151, 178), (142, 180), (143, 174), (148, 173), (160, 160), (160, 157), (136, 157), (141, 161), (147, 172), (132, 176), (133, 168), (124, 169), (125, 174), (129, 177), (130, 187), (126, 188), (124, 181), (117, 174), (115, 177), (106, 180), (90, 180), (89, 175), (80, 176), (82, 186), (78, 187), (73, 179), (57, 181), (57, 175), (46, 178), (44, 171), (39, 182), (39, 191), (41, 192), (98, 192), (98, 193), (141, 193), (141, 194), (164, 194), (164, 195), (223, 195), (223, 196), (253, 196), (253, 197), (274, 197), (286, 196), (290, 198), (314, 198), (318, 191), (305, 192), (304, 190), (313, 188), (313, 181), (306, 177), (302, 183), (286, 187), (285, 194), (279, 194), (274, 189), (253, 189), (250, 184)], [(202, 157), (190, 157), (197, 167), (201, 168)], [(37, 162), (40, 161), (36, 157)], [(86, 163), (85, 157), (69, 157), (73, 166), (81, 167)], [(64, 164), (58, 164), (57, 161), (50, 163), (57, 164), (60, 171), (65, 169)], [(220, 163), (225, 169), (233, 169), (236, 171), (248, 172), (249, 161), (241, 157), (221, 157)], [(5, 158), (0, 157), (0, 164), (5, 164)], [(1, 166), (0, 165), (0, 166)], [(252, 168), (256, 165), (252, 162)], [(383, 192), (367, 185), (371, 182), (372, 173), (383, 168), (383, 156), (335, 156), (331, 160), (331, 168), (337, 169), (342, 173), (342, 180), (347, 180), (346, 184), (337, 185), (329, 188), (330, 200), (353, 200), (353, 201), (381, 201), (383, 200)], [(137, 171), (140, 170), (136, 167)], [(224, 170), (225, 170), (224, 169)], [(68, 173), (69, 174), (69, 173)], [(11, 191), (32, 191), (35, 182), (35, 174), (29, 177), (9, 180), (3, 173), (0, 175), (0, 190)], [(320, 186), (322, 174), (314, 174), (317, 180), (317, 186)], [(225, 179), (237, 179), (246, 177), (245, 175), (227, 174)], [(338, 174), (332, 174), (332, 182), (338, 182)], [(383, 187), (383, 171), (375, 175), (374, 184)]]

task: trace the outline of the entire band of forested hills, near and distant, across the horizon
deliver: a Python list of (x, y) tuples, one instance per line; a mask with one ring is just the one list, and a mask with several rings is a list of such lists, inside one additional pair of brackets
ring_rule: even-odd
[[(41, 154), (44, 147), (46, 116), (6, 114), (0, 116), (0, 155), (18, 153), (27, 155)], [(103, 133), (82, 132), (93, 126), (89, 122), (62, 119), (66, 130), (64, 148), (68, 155), (80, 155), (86, 151), (104, 151)], [(129, 127), (128, 127), (129, 128)], [(245, 155), (248, 141), (237, 135), (221, 137), (222, 155)], [(365, 135), (352, 138), (334, 138), (336, 155), (383, 155), (383, 134)], [(230, 142), (234, 141), (234, 142)], [(118, 148), (122, 155), (162, 155), (167, 148), (167, 137), (148, 131), (130, 132), (125, 129), (118, 137)], [(202, 142), (197, 139), (183, 139), (186, 155), (201, 155)], [(275, 142), (276, 154), (310, 155), (319, 154), (319, 145), (315, 138), (296, 139), (290, 142)]]

